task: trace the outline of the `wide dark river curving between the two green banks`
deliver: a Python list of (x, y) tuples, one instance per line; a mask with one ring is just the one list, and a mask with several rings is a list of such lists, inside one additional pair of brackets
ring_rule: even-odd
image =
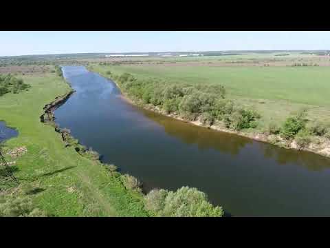
[(146, 189), (187, 185), (233, 216), (330, 216), (330, 160), (142, 110), (114, 83), (64, 67), (76, 92), (56, 122)]

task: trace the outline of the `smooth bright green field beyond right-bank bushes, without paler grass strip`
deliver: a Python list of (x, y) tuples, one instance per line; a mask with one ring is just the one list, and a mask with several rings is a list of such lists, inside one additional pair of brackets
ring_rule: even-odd
[(327, 67), (212, 67), (112, 66), (98, 67), (114, 73), (162, 77), (186, 83), (220, 83), (228, 94), (252, 99), (286, 100), (330, 107), (330, 68)]

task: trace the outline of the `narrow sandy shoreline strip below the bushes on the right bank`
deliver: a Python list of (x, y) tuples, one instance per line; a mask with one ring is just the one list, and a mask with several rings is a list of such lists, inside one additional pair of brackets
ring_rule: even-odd
[[(90, 68), (90, 69), (93, 70), (92, 68)], [(102, 76), (104, 76), (108, 79), (111, 79), (111, 77), (109, 77), (108, 74), (106, 74), (102, 71), (96, 70), (96, 72), (100, 73)], [(314, 136), (313, 142), (309, 143), (305, 147), (299, 147), (298, 144), (296, 143), (296, 141), (285, 140), (280, 135), (276, 135), (276, 134), (265, 134), (265, 133), (261, 133), (261, 132), (241, 132), (241, 131), (236, 131), (236, 130), (229, 130), (220, 121), (215, 121), (213, 125), (203, 125), (203, 123), (199, 119), (200, 116), (197, 117), (197, 121), (188, 121), (177, 113), (167, 114), (164, 110), (160, 109), (157, 106), (151, 105), (150, 103), (145, 104), (142, 102), (141, 99), (137, 99), (135, 97), (128, 96), (128, 94), (126, 94), (126, 92), (124, 92), (124, 90), (122, 90), (120, 85), (117, 82), (115, 82), (115, 80), (111, 79), (111, 81), (113, 81), (115, 83), (115, 85), (117, 85), (117, 87), (120, 89), (120, 91), (122, 92), (123, 99), (125, 99), (126, 101), (128, 101), (129, 103), (131, 103), (133, 105), (137, 105), (146, 110), (151, 110), (153, 112), (157, 112), (158, 114), (162, 114), (164, 116), (175, 118), (179, 121), (184, 121), (186, 123), (190, 123), (192, 125), (197, 125), (199, 127), (206, 127), (206, 128), (210, 128), (215, 131), (219, 131), (219, 132), (226, 132), (226, 133), (230, 133), (230, 134), (243, 136), (246, 138), (251, 138), (254, 141), (271, 143), (272, 145), (276, 145), (278, 147), (282, 147), (285, 149), (296, 149), (296, 150), (300, 150), (300, 151), (313, 152), (314, 154), (318, 154), (320, 156), (325, 156), (325, 157), (330, 158), (330, 140), (328, 138)]]

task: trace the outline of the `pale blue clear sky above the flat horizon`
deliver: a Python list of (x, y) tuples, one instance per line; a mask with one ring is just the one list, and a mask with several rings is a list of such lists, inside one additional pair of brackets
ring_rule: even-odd
[(330, 32), (0, 31), (0, 56), (221, 50), (330, 50)]

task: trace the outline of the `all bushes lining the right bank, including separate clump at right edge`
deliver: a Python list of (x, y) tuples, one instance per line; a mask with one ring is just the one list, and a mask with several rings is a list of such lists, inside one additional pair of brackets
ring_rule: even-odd
[[(254, 129), (259, 125), (261, 115), (255, 110), (243, 107), (231, 99), (225, 99), (225, 88), (219, 84), (189, 84), (168, 82), (163, 79), (137, 79), (129, 73), (107, 74), (114, 79), (130, 97), (143, 104), (159, 107), (167, 114), (179, 114), (187, 121), (201, 121), (213, 125), (220, 121), (230, 130)], [(300, 110), (288, 116), (283, 123), (270, 123), (263, 132), (276, 134), (285, 141), (296, 141), (298, 148), (313, 142), (313, 136), (330, 138), (330, 123), (307, 125), (307, 110)], [(279, 140), (274, 141), (277, 143)]]

